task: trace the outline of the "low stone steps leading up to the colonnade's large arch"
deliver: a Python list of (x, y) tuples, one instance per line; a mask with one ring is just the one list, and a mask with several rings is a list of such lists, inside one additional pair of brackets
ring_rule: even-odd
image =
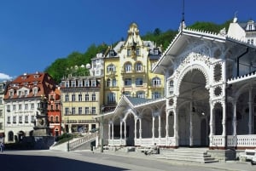
[(178, 148), (172, 150), (161, 150), (160, 155), (157, 155), (157, 158), (177, 162), (218, 162), (214, 157), (207, 154), (207, 148)]

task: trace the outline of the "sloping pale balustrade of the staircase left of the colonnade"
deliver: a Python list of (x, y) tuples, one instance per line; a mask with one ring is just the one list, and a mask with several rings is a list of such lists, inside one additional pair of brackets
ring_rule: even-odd
[(80, 138), (79, 140), (74, 140), (73, 142), (69, 142), (67, 144), (67, 151), (73, 151), (80, 145), (83, 145), (86, 142), (96, 140), (96, 137), (98, 137), (98, 133), (91, 133), (86, 134), (84, 137)]

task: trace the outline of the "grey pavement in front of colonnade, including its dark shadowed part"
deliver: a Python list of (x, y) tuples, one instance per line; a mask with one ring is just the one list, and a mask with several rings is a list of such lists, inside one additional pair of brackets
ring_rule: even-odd
[(193, 163), (174, 162), (145, 156), (137, 152), (110, 151), (3, 151), (0, 153), (3, 171), (255, 171), (250, 162)]

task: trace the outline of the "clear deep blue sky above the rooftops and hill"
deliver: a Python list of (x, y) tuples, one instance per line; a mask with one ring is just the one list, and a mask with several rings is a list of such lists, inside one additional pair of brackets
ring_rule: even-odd
[[(0, 79), (44, 71), (92, 43), (126, 38), (131, 22), (140, 34), (177, 30), (183, 0), (0, 0)], [(185, 0), (185, 22), (256, 21), (255, 0)], [(171, 42), (171, 40), (170, 40)]]

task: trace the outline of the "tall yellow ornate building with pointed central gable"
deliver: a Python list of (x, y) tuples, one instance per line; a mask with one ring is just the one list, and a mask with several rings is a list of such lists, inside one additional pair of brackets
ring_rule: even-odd
[(143, 41), (132, 23), (126, 41), (110, 47), (104, 59), (105, 110), (113, 109), (122, 94), (145, 99), (164, 96), (164, 77), (151, 71), (160, 54), (161, 49)]

